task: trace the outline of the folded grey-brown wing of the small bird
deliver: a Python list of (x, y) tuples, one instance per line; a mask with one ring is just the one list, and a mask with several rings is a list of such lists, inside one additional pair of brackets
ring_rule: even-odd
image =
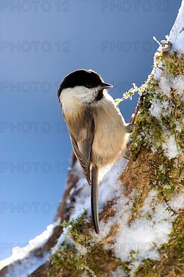
[[(91, 149), (94, 141), (95, 121), (83, 121), (82, 128), (77, 128), (79, 132), (71, 130), (68, 126), (71, 143), (75, 156), (82, 168), (83, 174), (87, 182), (91, 183), (90, 165), (91, 165)], [(76, 129), (75, 129), (76, 130)]]

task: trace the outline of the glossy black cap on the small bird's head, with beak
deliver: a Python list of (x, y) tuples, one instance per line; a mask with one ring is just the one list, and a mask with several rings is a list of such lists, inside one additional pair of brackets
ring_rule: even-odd
[(76, 70), (68, 74), (59, 86), (57, 97), (60, 97), (62, 90), (67, 88), (74, 88), (76, 86), (84, 86), (86, 88), (96, 88), (102, 86), (102, 88), (111, 88), (112, 85), (105, 84), (102, 77), (93, 70)]

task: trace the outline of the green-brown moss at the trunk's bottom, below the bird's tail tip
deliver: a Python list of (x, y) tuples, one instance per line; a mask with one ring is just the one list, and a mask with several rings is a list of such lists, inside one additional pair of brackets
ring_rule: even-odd
[[(64, 222), (62, 226), (67, 227), (66, 240), (50, 257), (51, 269), (48, 277), (76, 277), (81, 276), (82, 272), (90, 276), (100, 276), (99, 272), (109, 272), (122, 265), (121, 261), (114, 257), (109, 240), (99, 243), (90, 235), (91, 226), (86, 223), (86, 211), (75, 221), (72, 219), (68, 223)], [(67, 237), (76, 245), (84, 247), (85, 254), (82, 255), (76, 246), (68, 244)]]

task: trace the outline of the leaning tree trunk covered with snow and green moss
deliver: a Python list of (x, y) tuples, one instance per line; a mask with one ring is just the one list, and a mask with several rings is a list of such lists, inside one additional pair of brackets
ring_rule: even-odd
[(153, 71), (139, 88), (130, 154), (102, 181), (100, 234), (91, 224), (90, 188), (73, 158), (46, 242), (42, 236), (36, 251), (12, 258), (2, 276), (182, 276), (183, 8), (182, 1), (169, 37), (155, 53)]

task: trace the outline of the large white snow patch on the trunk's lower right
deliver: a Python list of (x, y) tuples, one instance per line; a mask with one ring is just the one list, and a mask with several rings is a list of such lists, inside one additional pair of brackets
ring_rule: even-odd
[[(183, 207), (183, 193), (173, 196), (172, 209)], [(153, 209), (154, 208), (154, 209)], [(120, 228), (112, 249), (122, 262), (130, 261), (130, 276), (144, 259), (159, 260), (159, 249), (167, 243), (174, 217), (166, 211), (165, 203), (158, 203), (157, 191), (151, 190), (142, 208), (141, 218), (127, 224), (127, 218), (119, 220)]]

